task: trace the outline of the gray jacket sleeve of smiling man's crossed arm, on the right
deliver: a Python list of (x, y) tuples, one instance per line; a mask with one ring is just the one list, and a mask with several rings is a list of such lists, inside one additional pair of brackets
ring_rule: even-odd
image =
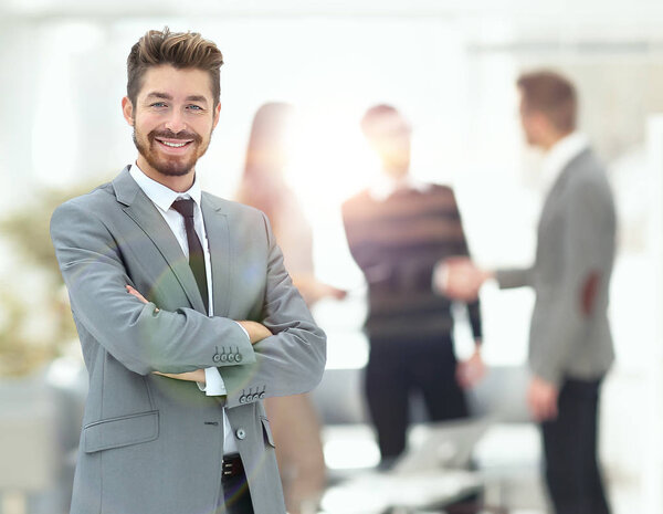
[(260, 322), (274, 336), (253, 346), (255, 361), (219, 369), (228, 389), (228, 407), (251, 401), (262, 392), (261, 398), (309, 391), (319, 382), (325, 368), (326, 336), (293, 286), (267, 217), (262, 217), (269, 258)]

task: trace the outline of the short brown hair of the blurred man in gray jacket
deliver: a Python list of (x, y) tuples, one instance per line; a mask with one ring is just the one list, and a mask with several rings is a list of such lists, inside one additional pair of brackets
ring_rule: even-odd
[(577, 95), (573, 84), (555, 72), (538, 71), (518, 77), (527, 108), (543, 113), (561, 132), (576, 128)]

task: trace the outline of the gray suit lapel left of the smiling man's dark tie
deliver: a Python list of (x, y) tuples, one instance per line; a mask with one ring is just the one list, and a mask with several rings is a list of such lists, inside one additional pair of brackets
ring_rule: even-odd
[(113, 181), (113, 187), (117, 201), (123, 203), (123, 210), (152, 241), (161, 255), (164, 255), (164, 259), (177, 276), (189, 298), (191, 306), (204, 313), (206, 310), (200, 291), (182, 249), (164, 217), (131, 178), (128, 167)]

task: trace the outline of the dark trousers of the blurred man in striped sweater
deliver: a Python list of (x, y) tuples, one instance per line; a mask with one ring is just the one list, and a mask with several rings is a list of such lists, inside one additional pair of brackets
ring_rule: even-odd
[(467, 417), (455, 379), (451, 336), (435, 339), (371, 339), (365, 386), (385, 464), (406, 448), (410, 394), (422, 395), (431, 421)]

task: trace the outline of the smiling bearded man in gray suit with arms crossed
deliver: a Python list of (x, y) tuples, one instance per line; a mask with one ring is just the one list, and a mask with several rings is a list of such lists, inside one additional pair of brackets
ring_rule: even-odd
[(90, 374), (74, 514), (285, 513), (261, 400), (314, 388), (326, 340), (266, 217), (200, 190), (222, 63), (200, 34), (146, 33), (137, 160), (53, 213)]

